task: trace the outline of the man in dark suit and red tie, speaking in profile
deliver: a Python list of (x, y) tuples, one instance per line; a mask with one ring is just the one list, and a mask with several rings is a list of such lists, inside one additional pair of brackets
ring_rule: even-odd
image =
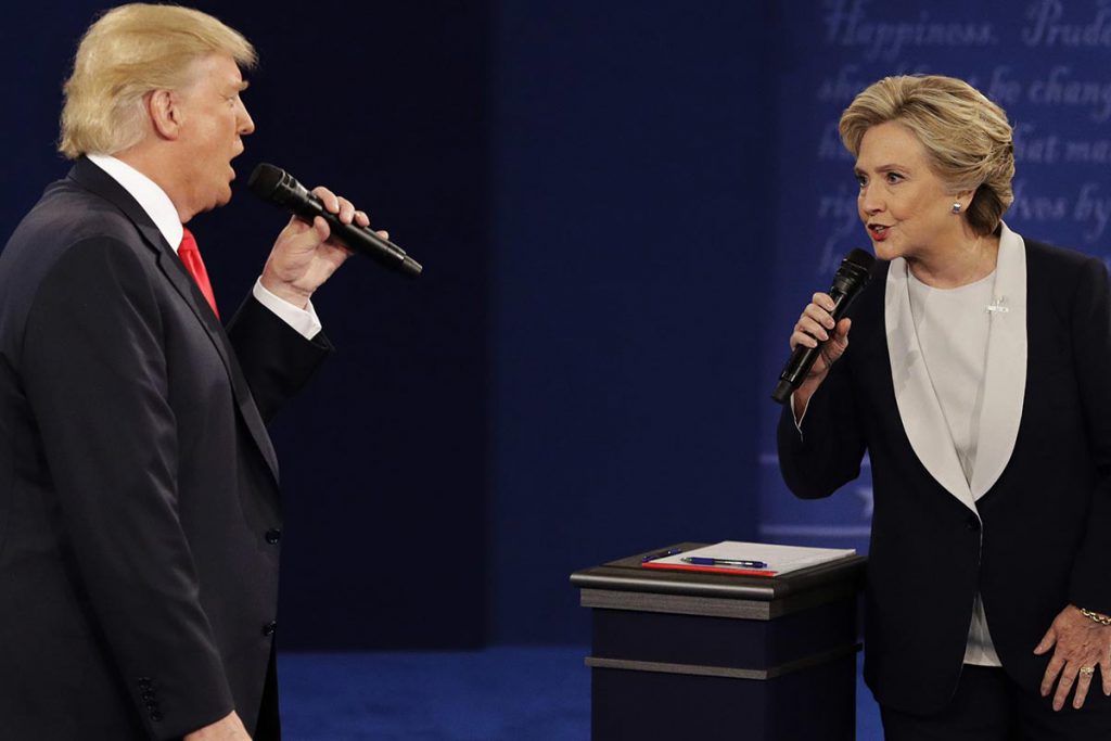
[(309, 298), (348, 252), (290, 221), (227, 329), (187, 258), (253, 60), (198, 11), (103, 16), (66, 86), (73, 169), (0, 254), (0, 737), (279, 738), (264, 424), (330, 351)]

